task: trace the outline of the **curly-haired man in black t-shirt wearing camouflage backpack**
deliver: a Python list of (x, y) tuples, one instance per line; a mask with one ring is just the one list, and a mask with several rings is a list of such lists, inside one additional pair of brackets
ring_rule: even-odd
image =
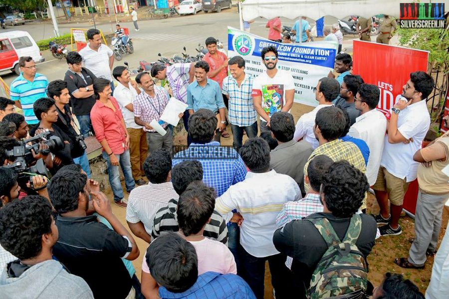
[[(320, 199), (323, 212), (301, 220), (293, 220), (274, 232), (276, 249), (293, 258), (291, 270), (299, 284), (309, 288), (312, 274), (328, 247), (309, 218), (326, 218), (340, 241), (345, 237), (352, 216), (359, 210), (369, 184), (364, 173), (348, 161), (334, 162), (323, 175)], [(356, 245), (365, 257), (370, 254), (376, 238), (377, 225), (373, 216), (360, 214), (362, 227)], [(367, 263), (368, 265), (368, 263)], [(299, 285), (298, 284), (298, 285)], [(300, 294), (297, 298), (305, 298)]]

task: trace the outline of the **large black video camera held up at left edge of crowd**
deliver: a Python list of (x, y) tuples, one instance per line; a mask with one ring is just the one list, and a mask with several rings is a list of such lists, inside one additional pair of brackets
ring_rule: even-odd
[[(30, 164), (30, 161), (34, 160), (31, 150), (34, 151), (35, 154), (42, 152), (47, 155), (51, 150), (64, 148), (64, 144), (59, 137), (50, 135), (51, 133), (49, 131), (36, 134), (32, 138), (22, 141), (20, 146), (5, 150), (7, 159), (14, 160), (12, 164), (6, 165), (5, 167), (11, 168), (17, 173), (17, 181), (20, 180), (26, 183), (29, 180), (31, 182), (32, 175), (29, 175), (29, 173), (36, 173), (48, 177), (47, 167), (45, 166), (43, 159), (38, 159), (34, 165), (28, 165)], [(29, 145), (36, 141), (47, 145), (48, 149), (39, 149), (39, 143)], [(27, 163), (27, 161), (29, 162)]]

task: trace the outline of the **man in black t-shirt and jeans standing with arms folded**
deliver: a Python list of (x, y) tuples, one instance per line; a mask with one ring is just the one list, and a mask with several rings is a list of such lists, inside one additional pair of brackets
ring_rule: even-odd
[(90, 110), (96, 101), (92, 85), (96, 77), (91, 71), (81, 66), (82, 60), (78, 52), (72, 51), (67, 54), (68, 70), (65, 72), (64, 81), (67, 82), (73, 114), (78, 120), (79, 130), (86, 138), (89, 132), (94, 133), (90, 121)]

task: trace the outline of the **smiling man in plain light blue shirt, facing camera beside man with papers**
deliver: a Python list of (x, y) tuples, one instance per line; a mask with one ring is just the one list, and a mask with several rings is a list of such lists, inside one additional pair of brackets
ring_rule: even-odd
[[(199, 109), (211, 110), (220, 121), (215, 135), (215, 141), (220, 142), (221, 132), (226, 129), (225, 102), (220, 85), (208, 78), (208, 72), (209, 64), (206, 61), (198, 61), (195, 64), (195, 78), (197, 80), (189, 84), (187, 88), (187, 109), (190, 115)], [(190, 145), (192, 140), (189, 138), (188, 141)]]

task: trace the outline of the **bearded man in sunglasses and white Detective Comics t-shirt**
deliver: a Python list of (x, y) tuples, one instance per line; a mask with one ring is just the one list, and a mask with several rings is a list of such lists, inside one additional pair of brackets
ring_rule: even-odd
[(260, 131), (270, 131), (270, 117), (277, 111), (290, 112), (295, 96), (293, 77), (287, 71), (277, 69), (277, 49), (268, 46), (261, 51), (266, 72), (254, 79), (252, 100), (260, 115)]

